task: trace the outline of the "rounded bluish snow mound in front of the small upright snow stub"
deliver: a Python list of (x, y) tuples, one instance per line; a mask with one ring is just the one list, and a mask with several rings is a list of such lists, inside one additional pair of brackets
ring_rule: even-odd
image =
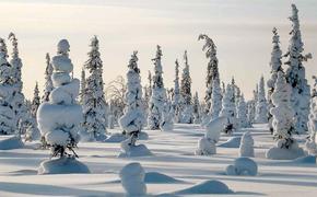
[(225, 169), (226, 175), (256, 176), (258, 174), (257, 163), (249, 158), (238, 158), (233, 165)]

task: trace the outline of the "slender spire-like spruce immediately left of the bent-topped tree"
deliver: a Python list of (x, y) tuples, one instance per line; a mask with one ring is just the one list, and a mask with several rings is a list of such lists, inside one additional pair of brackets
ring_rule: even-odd
[(184, 69), (181, 73), (181, 81), (180, 81), (180, 95), (183, 100), (183, 116), (180, 121), (184, 124), (192, 124), (193, 116), (192, 116), (192, 99), (191, 99), (191, 78), (189, 72), (189, 65), (188, 65), (188, 57), (187, 50), (184, 53)]

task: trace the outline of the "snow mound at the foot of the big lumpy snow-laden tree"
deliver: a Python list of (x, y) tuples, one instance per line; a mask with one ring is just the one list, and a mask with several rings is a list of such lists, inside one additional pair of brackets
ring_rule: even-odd
[(89, 167), (73, 158), (45, 160), (40, 163), (37, 174), (84, 174)]

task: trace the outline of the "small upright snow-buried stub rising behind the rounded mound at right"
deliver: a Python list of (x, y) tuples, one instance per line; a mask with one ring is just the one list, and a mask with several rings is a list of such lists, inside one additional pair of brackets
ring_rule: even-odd
[(249, 131), (245, 132), (240, 140), (239, 146), (239, 157), (254, 158), (255, 149), (254, 149), (254, 138)]

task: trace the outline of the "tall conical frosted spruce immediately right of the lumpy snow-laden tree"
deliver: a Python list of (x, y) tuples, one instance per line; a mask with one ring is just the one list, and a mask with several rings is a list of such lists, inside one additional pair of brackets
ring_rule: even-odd
[(107, 132), (107, 103), (104, 95), (103, 61), (99, 53), (99, 40), (94, 36), (85, 69), (89, 71), (84, 93), (83, 114), (84, 129), (92, 140), (104, 140)]

